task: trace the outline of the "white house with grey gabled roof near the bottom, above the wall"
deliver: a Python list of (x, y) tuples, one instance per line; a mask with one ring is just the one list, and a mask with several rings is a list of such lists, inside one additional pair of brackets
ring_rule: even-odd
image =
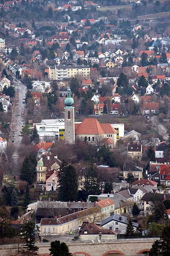
[[(105, 227), (107, 229), (111, 229), (119, 234), (125, 234), (127, 224), (127, 217), (118, 214), (113, 214), (109, 218), (103, 220), (100, 226)], [(139, 224), (136, 222), (132, 222), (132, 225), (133, 229), (136, 231), (136, 228), (139, 226)]]

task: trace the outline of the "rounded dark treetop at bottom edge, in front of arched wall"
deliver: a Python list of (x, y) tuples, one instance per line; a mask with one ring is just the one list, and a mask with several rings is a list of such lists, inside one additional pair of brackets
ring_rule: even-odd
[(71, 256), (67, 244), (64, 242), (60, 243), (60, 241), (57, 240), (51, 242), (49, 251), (52, 256)]

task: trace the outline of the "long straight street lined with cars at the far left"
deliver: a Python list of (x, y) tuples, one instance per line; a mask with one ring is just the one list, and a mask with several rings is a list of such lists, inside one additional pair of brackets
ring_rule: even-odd
[(24, 116), (23, 108), (25, 108), (25, 104), (23, 104), (23, 99), (25, 99), (26, 97), (26, 86), (17, 79), (14, 79), (14, 81), (15, 99), (11, 110), (11, 131), (8, 143), (12, 143), (14, 145), (15, 150), (12, 154), (12, 158), (14, 160), (14, 163), (16, 164), (18, 160), (17, 147), (22, 140), (22, 137), (20, 136), (20, 131), (22, 130), (22, 126), (25, 124), (22, 113)]

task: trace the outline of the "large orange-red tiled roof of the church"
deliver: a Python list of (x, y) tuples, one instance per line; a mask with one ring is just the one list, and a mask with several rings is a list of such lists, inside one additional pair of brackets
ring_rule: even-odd
[(116, 130), (109, 123), (99, 123), (96, 118), (85, 118), (75, 125), (75, 134), (115, 134)]

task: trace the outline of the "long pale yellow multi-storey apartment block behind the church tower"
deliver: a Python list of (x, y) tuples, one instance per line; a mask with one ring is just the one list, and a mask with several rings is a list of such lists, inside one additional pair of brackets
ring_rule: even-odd
[(61, 78), (69, 78), (76, 75), (81, 75), (83, 78), (90, 77), (90, 66), (88, 65), (55, 65), (49, 67), (50, 80), (57, 80)]

